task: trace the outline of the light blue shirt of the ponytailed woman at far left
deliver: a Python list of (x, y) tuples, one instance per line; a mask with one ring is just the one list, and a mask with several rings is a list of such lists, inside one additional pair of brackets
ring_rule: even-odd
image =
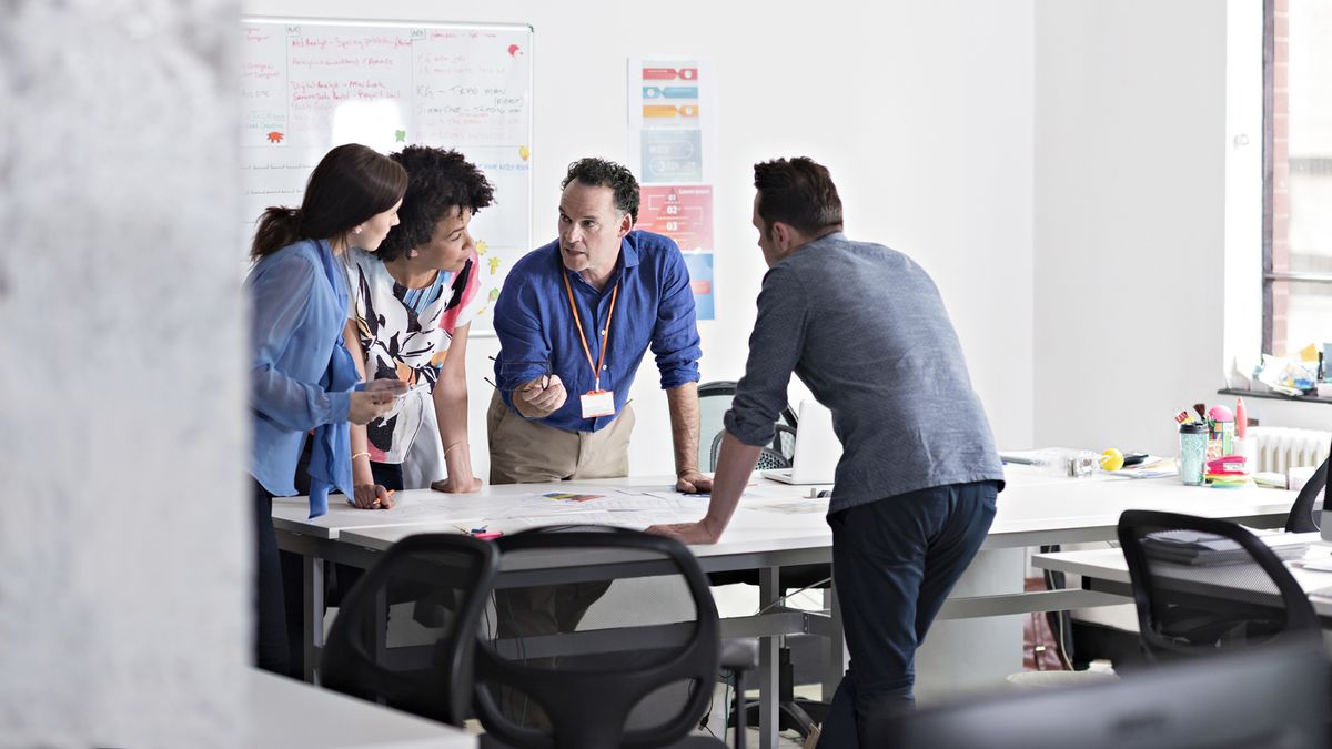
[(357, 377), (342, 343), (346, 280), (326, 241), (304, 240), (260, 260), (245, 291), (253, 305), (250, 473), (274, 496), (294, 494), (296, 464), (314, 429), (313, 512), (316, 493), (336, 485), (350, 496), (352, 488), (346, 417)]

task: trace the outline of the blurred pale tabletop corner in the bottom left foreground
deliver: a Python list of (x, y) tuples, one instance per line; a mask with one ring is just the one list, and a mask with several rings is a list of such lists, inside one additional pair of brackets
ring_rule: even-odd
[(258, 669), (246, 672), (256, 749), (473, 749), (462, 729)]

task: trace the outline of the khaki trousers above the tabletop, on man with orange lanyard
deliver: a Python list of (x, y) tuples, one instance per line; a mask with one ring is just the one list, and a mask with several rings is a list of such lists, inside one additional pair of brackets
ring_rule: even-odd
[[(578, 397), (573, 393), (569, 397)], [(492, 484), (538, 484), (577, 478), (629, 476), (629, 436), (634, 409), (623, 410), (599, 432), (567, 432), (537, 421), (490, 397), (486, 434), (490, 438)]]

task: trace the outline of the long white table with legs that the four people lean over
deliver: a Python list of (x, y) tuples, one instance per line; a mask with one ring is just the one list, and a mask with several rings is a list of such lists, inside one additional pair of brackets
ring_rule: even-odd
[[(1293, 492), (1277, 489), (1216, 490), (1184, 486), (1176, 478), (1135, 480), (1108, 476), (1067, 478), (1027, 466), (1006, 469), (1008, 486), (999, 496), (998, 514), (980, 554), (958, 582), (918, 653), (918, 697), (939, 696), (959, 688), (990, 686), (1007, 673), (1022, 669), (1022, 621), (1016, 616), (1031, 610), (1062, 610), (1122, 602), (1114, 596), (1091, 590), (1023, 593), (1026, 548), (1063, 542), (1111, 540), (1124, 509), (1158, 509), (1223, 517), (1259, 526), (1277, 526), (1285, 520)], [(590, 488), (665, 490), (670, 477), (618, 478), (565, 484), (485, 486), (480, 494), (450, 496), (438, 492), (400, 492), (393, 510), (357, 510), (334, 497), (329, 514), (306, 520), (304, 498), (274, 500), (273, 521), (284, 549), (306, 557), (306, 669), (313, 668), (322, 640), (322, 568), (316, 558), (330, 558), (368, 566), (374, 556), (397, 540), (425, 532), (458, 532), (486, 517), (486, 509), (505, 498), (545, 492)], [(759, 598), (777, 601), (781, 590), (777, 570), (787, 565), (831, 561), (832, 536), (822, 512), (778, 513), (755, 509), (757, 504), (807, 500), (809, 486), (787, 486), (755, 480), (762, 500), (742, 500), (735, 517), (715, 545), (694, 546), (705, 570), (758, 569)], [(802, 500), (802, 497), (806, 497)], [(699, 498), (702, 517), (706, 500)], [(489, 521), (490, 529), (506, 529), (503, 521)], [(765, 636), (761, 648), (761, 710), (771, 730), (761, 733), (761, 745), (775, 745), (775, 636), (811, 632), (827, 636), (832, 652), (840, 653), (840, 626), (834, 617), (809, 612), (771, 610), (763, 617), (727, 620), (727, 636)], [(1000, 617), (980, 621), (979, 617)], [(825, 686), (840, 678), (840, 658), (832, 658)]]

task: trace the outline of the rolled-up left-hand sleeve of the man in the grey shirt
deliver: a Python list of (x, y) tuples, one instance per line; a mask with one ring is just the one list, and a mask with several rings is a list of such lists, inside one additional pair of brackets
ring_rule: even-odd
[(726, 430), (746, 445), (773, 442), (791, 372), (805, 348), (805, 319), (806, 297), (795, 273), (781, 267), (769, 271), (758, 295), (745, 377), (735, 385), (735, 398), (723, 416)]

